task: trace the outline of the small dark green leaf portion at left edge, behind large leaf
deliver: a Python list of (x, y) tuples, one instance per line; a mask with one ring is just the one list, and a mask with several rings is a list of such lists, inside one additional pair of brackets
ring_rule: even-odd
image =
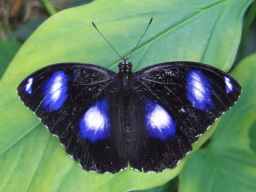
[(0, 79), (21, 45), (17, 41), (0, 41)]

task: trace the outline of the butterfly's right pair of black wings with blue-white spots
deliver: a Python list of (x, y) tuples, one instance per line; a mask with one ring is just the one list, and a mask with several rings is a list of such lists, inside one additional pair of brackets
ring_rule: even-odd
[(129, 164), (146, 172), (174, 168), (241, 92), (227, 73), (188, 61), (149, 66), (135, 81), (144, 121), (132, 136)]

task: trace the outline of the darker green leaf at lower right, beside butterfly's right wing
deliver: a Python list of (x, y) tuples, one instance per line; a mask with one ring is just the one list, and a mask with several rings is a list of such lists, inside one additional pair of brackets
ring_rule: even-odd
[(180, 192), (255, 191), (255, 70), (256, 53), (231, 73), (242, 85), (242, 95), (221, 118), (212, 142), (188, 159), (179, 176)]

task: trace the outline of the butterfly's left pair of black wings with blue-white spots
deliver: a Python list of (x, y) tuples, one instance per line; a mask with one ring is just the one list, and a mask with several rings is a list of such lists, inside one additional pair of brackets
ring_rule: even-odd
[(97, 65), (59, 63), (29, 75), (18, 95), (83, 169), (115, 173), (127, 167), (110, 122), (115, 79), (116, 73)]

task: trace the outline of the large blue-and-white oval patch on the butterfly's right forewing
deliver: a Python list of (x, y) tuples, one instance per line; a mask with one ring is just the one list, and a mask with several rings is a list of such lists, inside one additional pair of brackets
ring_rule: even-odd
[(210, 107), (213, 107), (210, 89), (210, 82), (201, 71), (191, 70), (188, 72), (186, 95), (196, 110), (207, 111)]

